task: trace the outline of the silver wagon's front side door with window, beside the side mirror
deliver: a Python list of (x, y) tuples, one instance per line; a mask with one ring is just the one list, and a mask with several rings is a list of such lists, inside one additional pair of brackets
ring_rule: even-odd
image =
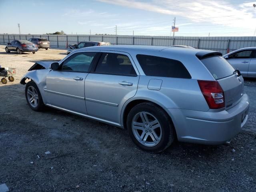
[(72, 54), (60, 63), (59, 70), (48, 73), (45, 91), (50, 105), (87, 114), (84, 81), (95, 56), (95, 52)]

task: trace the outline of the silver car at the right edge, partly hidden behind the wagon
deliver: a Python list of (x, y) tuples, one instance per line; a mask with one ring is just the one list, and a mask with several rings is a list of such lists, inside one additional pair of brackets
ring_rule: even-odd
[(256, 78), (256, 47), (235, 50), (223, 56), (242, 76)]

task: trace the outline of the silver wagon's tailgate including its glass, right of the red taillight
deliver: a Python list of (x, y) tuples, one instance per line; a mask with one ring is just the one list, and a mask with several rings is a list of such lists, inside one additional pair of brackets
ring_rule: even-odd
[(244, 92), (244, 79), (233, 74), (234, 68), (221, 56), (212, 56), (201, 60), (224, 91), (226, 108), (235, 106)]

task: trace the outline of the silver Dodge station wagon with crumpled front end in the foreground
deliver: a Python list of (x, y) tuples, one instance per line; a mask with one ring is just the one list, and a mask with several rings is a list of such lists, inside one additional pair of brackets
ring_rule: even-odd
[[(26, 79), (30, 79), (27, 83)], [(143, 150), (181, 142), (222, 144), (248, 119), (239, 70), (220, 52), (164, 46), (95, 46), (37, 62), (22, 78), (44, 106), (127, 129)]]

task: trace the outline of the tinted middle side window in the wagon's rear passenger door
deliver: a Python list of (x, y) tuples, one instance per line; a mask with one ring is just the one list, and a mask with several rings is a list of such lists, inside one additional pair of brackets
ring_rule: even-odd
[(102, 53), (95, 72), (136, 76), (128, 56), (117, 53)]

